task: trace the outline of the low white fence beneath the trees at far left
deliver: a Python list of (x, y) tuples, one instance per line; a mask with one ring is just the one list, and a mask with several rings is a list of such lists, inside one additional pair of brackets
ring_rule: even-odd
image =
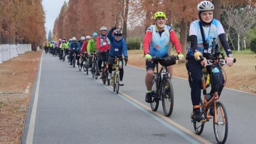
[(31, 44), (1, 44), (0, 64), (28, 51), (31, 51)]

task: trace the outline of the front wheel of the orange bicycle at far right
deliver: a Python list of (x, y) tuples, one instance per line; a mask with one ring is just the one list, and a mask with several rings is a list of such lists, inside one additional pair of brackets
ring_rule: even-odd
[(228, 137), (228, 115), (221, 102), (216, 103), (216, 109), (217, 123), (213, 120), (214, 134), (218, 144), (224, 144)]

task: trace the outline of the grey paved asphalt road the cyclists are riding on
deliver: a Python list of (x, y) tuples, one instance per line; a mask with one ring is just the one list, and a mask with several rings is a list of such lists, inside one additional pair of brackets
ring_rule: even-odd
[[(52, 55), (43, 54), (41, 72), (38, 69), (22, 144), (216, 143), (212, 121), (200, 136), (193, 133), (187, 80), (173, 78), (174, 111), (167, 118), (161, 104), (153, 113), (144, 102), (145, 70), (125, 66), (125, 86), (117, 95)], [(32, 110), (34, 100), (38, 102)], [(256, 96), (224, 89), (221, 101), (229, 120), (226, 144), (255, 143)]]

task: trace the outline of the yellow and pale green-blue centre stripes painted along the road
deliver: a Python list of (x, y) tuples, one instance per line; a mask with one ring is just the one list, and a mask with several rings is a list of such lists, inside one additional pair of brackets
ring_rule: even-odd
[[(84, 73), (86, 74), (86, 72), (84, 72)], [(91, 76), (91, 74), (89, 76)], [(97, 80), (95, 78), (93, 78), (93, 79), (96, 82), (98, 82), (99, 84), (101, 84), (102, 86), (104, 86), (105, 88), (107, 88), (108, 90), (112, 91), (112, 86), (106, 86), (105, 84), (102, 84), (102, 82), (99, 79), (97, 79)], [(169, 128), (170, 130), (176, 132), (177, 134), (179, 134), (180, 136), (182, 136), (183, 138), (185, 138), (186, 140), (188, 140), (192, 144), (200, 144), (199, 142), (197, 142), (193, 138), (197, 139), (198, 141), (200, 141), (204, 144), (212, 144), (208, 140), (205, 140), (204, 138), (198, 136), (197, 134), (188, 130), (187, 128), (184, 128), (180, 124), (172, 121), (170, 118), (160, 114), (159, 112), (153, 112), (151, 110), (151, 108), (149, 108), (145, 104), (142, 104), (138, 100), (132, 98), (132, 96), (129, 96), (128, 94), (125, 94), (124, 92), (122, 92), (120, 90), (119, 90), (119, 94), (117, 94), (117, 95), (120, 96), (122, 99), (126, 100), (127, 102), (129, 102), (130, 104), (132, 104), (133, 106), (135, 106), (136, 108), (140, 109), (142, 112), (145, 112), (146, 114), (148, 114), (149, 116), (151, 116), (152, 118), (157, 120), (158, 122), (161, 122), (164, 126)], [(177, 128), (175, 128), (174, 126), (176, 126)], [(190, 135), (193, 138), (191, 138), (188, 135)]]

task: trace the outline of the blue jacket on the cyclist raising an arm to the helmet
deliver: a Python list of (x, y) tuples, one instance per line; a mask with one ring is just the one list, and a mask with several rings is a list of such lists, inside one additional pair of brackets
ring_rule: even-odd
[(108, 32), (108, 39), (110, 40), (109, 55), (115, 57), (115, 56), (120, 56), (123, 53), (124, 57), (128, 58), (127, 45), (126, 45), (126, 42), (125, 42), (124, 38), (122, 37), (121, 40), (117, 41), (115, 39), (115, 35), (112, 34), (112, 33), (113, 33), (113, 30), (110, 29), (109, 32)]

